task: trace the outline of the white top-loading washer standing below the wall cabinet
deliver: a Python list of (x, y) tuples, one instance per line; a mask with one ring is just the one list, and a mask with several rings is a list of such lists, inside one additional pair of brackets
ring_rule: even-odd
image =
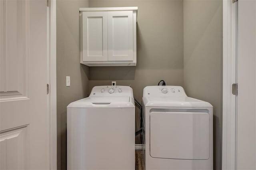
[(134, 170), (135, 105), (128, 86), (96, 86), (67, 107), (68, 170)]

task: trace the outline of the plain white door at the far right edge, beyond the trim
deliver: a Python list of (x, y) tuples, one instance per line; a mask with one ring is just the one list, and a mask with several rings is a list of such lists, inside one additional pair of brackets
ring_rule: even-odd
[(256, 169), (256, 1), (238, 0), (237, 170)]

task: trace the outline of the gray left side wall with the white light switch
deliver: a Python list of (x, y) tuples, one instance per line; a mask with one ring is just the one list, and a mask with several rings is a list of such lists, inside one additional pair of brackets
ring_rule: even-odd
[[(88, 94), (89, 68), (80, 65), (79, 8), (88, 0), (57, 0), (57, 168), (66, 169), (66, 107)], [(66, 87), (70, 76), (70, 87)]]

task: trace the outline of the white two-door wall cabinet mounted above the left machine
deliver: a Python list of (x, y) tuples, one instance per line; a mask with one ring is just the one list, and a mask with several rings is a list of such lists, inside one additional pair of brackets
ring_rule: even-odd
[(137, 10), (80, 8), (80, 62), (88, 66), (136, 66)]

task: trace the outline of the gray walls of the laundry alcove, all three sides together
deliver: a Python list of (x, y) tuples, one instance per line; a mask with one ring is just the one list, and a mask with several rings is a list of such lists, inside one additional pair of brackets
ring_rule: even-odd
[[(137, 66), (80, 65), (80, 7), (138, 6)], [(184, 45), (184, 47), (183, 47)], [(66, 76), (71, 86), (66, 87)], [(57, 163), (66, 169), (66, 106), (95, 85), (143, 88), (184, 86), (191, 97), (214, 106), (214, 169), (221, 169), (222, 1), (221, 0), (57, 0)]]

